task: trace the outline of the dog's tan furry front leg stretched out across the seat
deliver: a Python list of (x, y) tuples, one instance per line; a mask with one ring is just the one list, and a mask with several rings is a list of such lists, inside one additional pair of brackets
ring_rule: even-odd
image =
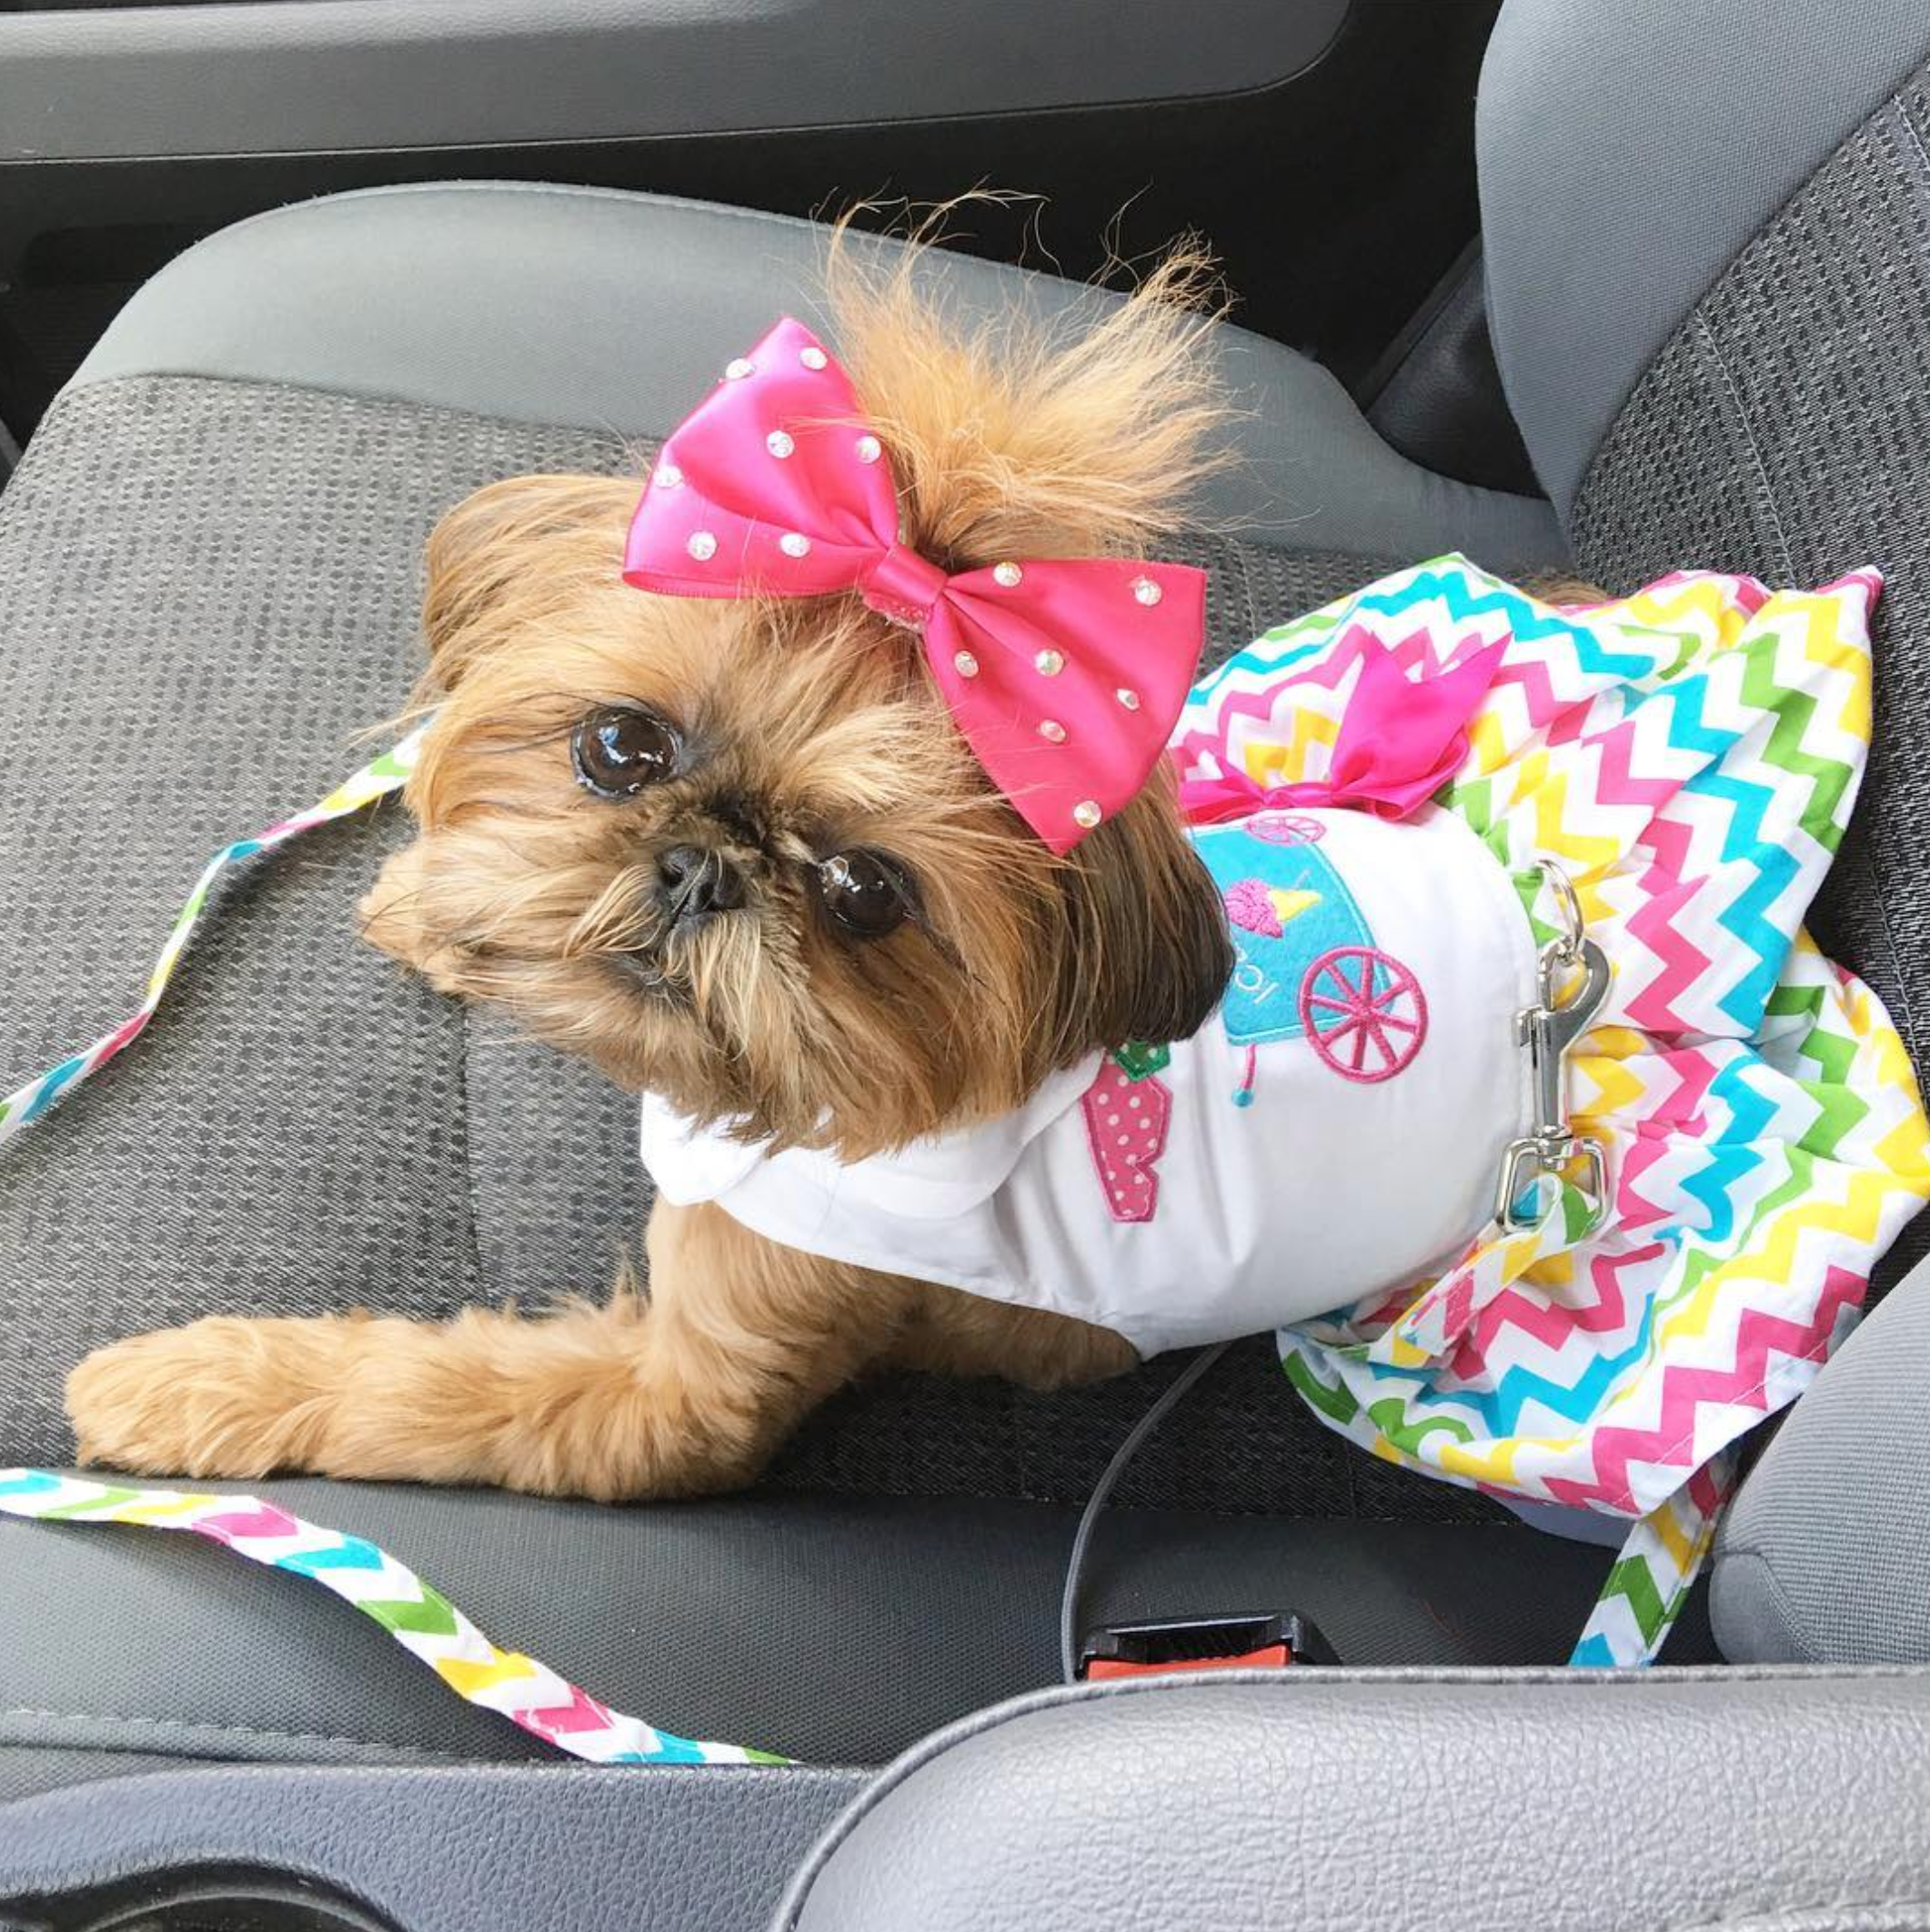
[(651, 1294), (535, 1320), (325, 1316), (137, 1335), (68, 1381), (81, 1457), (147, 1474), (487, 1482), (616, 1501), (750, 1482), (891, 1352), (914, 1283), (659, 1204)]

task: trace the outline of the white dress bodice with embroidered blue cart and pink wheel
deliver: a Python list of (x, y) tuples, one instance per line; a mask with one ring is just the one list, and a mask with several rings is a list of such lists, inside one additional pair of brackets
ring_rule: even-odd
[[(1262, 811), (1196, 835), (1238, 966), (1192, 1039), (1093, 1055), (1020, 1113), (840, 1165), (643, 1105), (670, 1202), (771, 1240), (1078, 1316), (1140, 1354), (1447, 1265), (1528, 1126), (1536, 941), (1451, 811)], [(1395, 1184), (1395, 1175), (1399, 1182)]]

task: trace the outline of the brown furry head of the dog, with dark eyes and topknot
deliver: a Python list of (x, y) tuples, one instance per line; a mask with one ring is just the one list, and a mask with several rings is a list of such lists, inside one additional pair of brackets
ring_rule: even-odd
[[(1028, 512), (1008, 473), (960, 464), (985, 377), (960, 365), (949, 394), (904, 319), (885, 328), (904, 406), (867, 400), (910, 541), (952, 570), (1095, 551), (1078, 489)], [(1010, 419), (995, 454), (1020, 469), (1080, 460), (1014, 456), (1039, 413)], [(1103, 483), (1117, 442), (1082, 435)], [(1171, 454), (1167, 437), (1146, 460)], [(367, 902), (377, 945), (699, 1121), (844, 1157), (1008, 1113), (1095, 1047), (1204, 1022), (1233, 958), (1163, 771), (1055, 858), (972, 759), (910, 632), (854, 597), (624, 585), (636, 493), (525, 477), (439, 527), (421, 837)], [(1132, 502), (1115, 479), (1090, 516)]]

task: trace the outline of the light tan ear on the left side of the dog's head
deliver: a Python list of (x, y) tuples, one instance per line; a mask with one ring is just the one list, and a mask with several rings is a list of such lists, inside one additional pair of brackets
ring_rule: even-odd
[(531, 475), (491, 483), (429, 535), (429, 678), (452, 692), (495, 641), (566, 609), (585, 580), (614, 582), (634, 477)]

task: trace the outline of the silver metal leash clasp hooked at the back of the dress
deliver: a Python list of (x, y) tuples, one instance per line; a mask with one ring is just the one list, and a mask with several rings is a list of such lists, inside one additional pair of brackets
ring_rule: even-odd
[[(1495, 1190), (1495, 1219), (1501, 1227), (1532, 1227), (1540, 1211), (1540, 1182), (1561, 1179), (1576, 1159), (1582, 1188), (1596, 1202), (1607, 1198), (1607, 1169), (1602, 1144), (1569, 1126), (1563, 1094), (1563, 1065), (1569, 1047), (1580, 1039), (1602, 1010), (1609, 989), (1607, 954), (1588, 937), (1582, 906), (1569, 875), (1549, 860), (1542, 875), (1555, 895), (1561, 933), (1542, 947), (1538, 1003), (1515, 1016), (1515, 1037), (1528, 1049), (1528, 1078), (1534, 1086), (1534, 1122), (1520, 1140), (1511, 1140), (1501, 1155), (1501, 1184)], [(1522, 1208), (1522, 1200), (1532, 1206)]]

